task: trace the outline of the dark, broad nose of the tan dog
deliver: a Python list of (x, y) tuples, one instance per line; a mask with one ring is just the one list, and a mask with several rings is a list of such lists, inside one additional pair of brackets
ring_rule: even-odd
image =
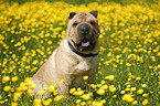
[(79, 28), (78, 28), (78, 32), (79, 32), (81, 34), (83, 34), (83, 35), (88, 34), (88, 33), (89, 33), (89, 30), (90, 30), (90, 28), (89, 28), (89, 25), (86, 24), (86, 23), (81, 24)]

